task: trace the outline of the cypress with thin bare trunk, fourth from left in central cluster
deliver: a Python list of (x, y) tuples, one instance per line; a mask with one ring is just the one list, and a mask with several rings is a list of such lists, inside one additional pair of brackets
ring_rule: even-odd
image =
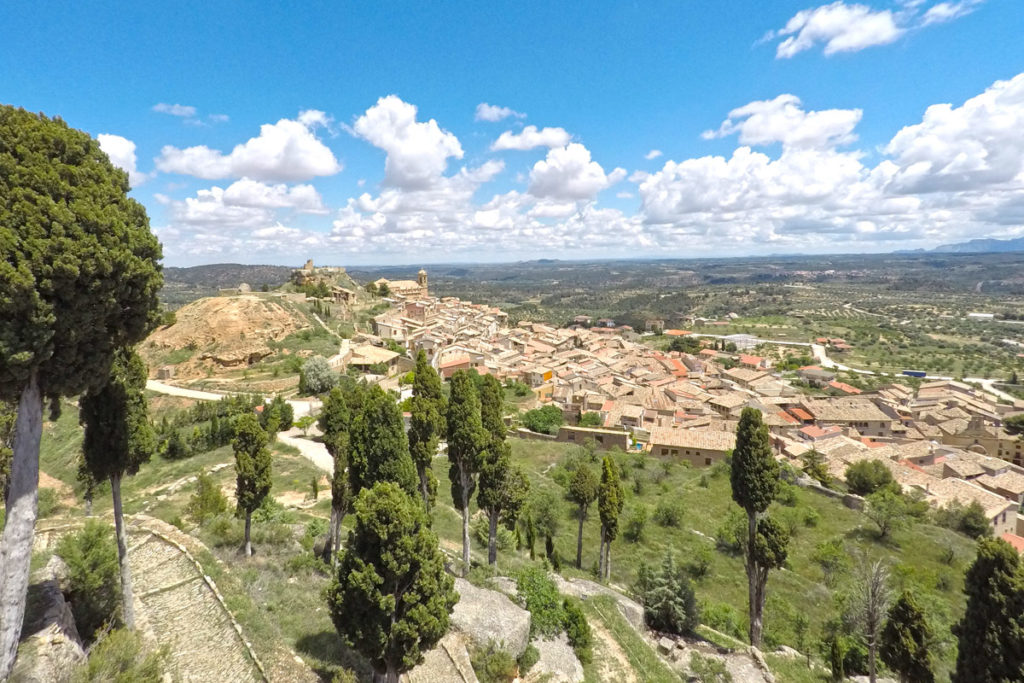
[(480, 419), (480, 397), (476, 383), (468, 372), (460, 370), (452, 376), (447, 442), (452, 500), (462, 512), (462, 562), (465, 570), (469, 570), (469, 502), (476, 492), (477, 475), (487, 440), (487, 433)]

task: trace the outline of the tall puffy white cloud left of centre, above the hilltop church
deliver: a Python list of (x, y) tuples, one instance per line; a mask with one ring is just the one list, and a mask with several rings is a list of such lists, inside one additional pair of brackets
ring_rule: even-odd
[(442, 176), (449, 157), (462, 159), (462, 145), (437, 122), (416, 120), (417, 109), (396, 95), (381, 97), (355, 120), (352, 130), (387, 153), (384, 182), (393, 187), (422, 189)]

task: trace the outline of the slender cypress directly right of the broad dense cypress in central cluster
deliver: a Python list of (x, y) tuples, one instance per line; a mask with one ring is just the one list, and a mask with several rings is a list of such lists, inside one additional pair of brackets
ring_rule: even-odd
[(416, 354), (416, 371), (413, 375), (413, 400), (410, 405), (409, 451), (416, 463), (420, 477), (420, 496), (423, 506), (429, 512), (437, 494), (437, 478), (432, 467), (437, 443), (444, 433), (444, 394), (441, 378), (421, 349)]

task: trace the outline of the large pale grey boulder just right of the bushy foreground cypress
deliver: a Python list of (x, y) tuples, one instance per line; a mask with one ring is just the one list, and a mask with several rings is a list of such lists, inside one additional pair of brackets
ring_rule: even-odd
[(452, 612), (452, 627), (477, 647), (494, 642), (518, 658), (529, 644), (529, 612), (503, 593), (477, 588), (465, 579), (455, 580), (459, 602)]

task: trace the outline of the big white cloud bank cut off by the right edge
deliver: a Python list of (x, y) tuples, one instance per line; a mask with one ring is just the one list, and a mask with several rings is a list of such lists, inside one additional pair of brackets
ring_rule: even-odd
[(1024, 74), (996, 81), (962, 106), (933, 104), (922, 122), (886, 146), (903, 193), (969, 190), (1018, 180), (1024, 173)]

